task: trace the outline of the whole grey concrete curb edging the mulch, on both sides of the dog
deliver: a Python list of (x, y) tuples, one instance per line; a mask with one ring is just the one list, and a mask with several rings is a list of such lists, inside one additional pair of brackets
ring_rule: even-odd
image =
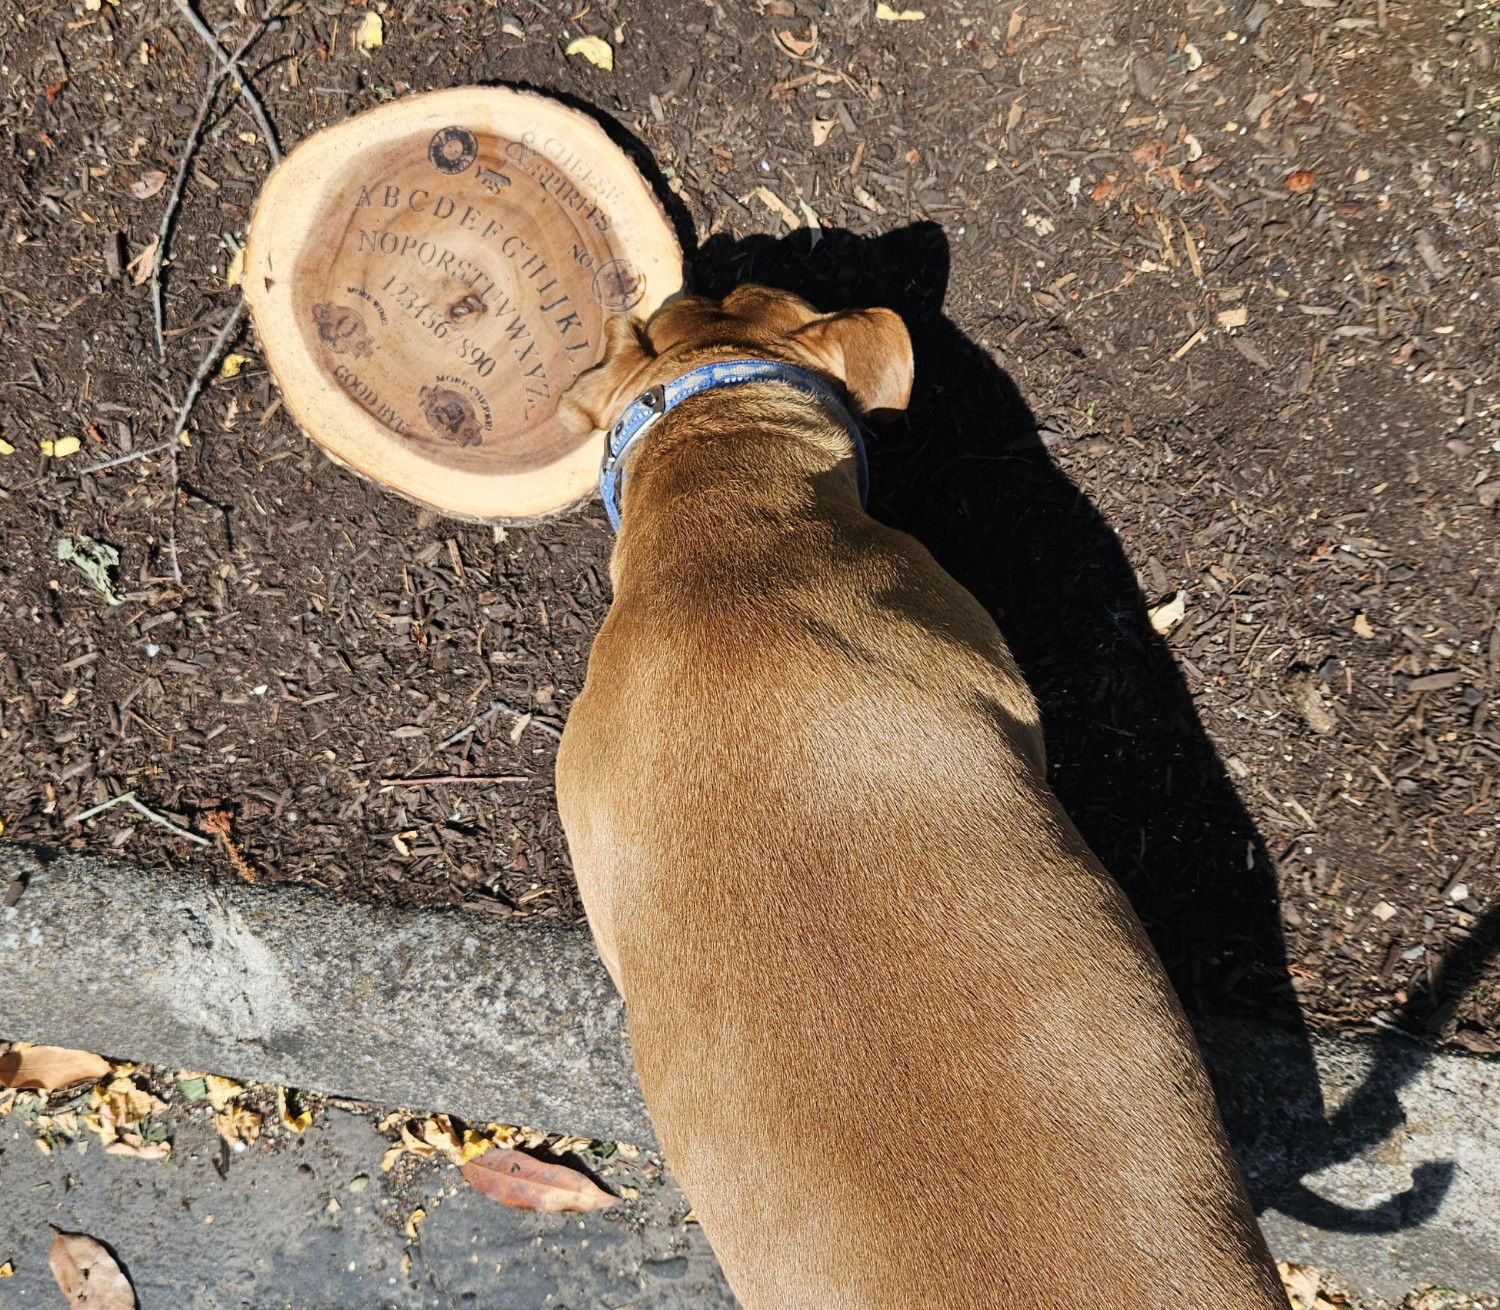
[[(0, 1035), (654, 1145), (580, 929), (0, 848)], [(1500, 1292), (1500, 1061), (1197, 1020), (1282, 1259)]]

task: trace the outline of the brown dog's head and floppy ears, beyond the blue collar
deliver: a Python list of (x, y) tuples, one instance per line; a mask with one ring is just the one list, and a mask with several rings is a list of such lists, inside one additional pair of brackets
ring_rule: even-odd
[(912, 342), (890, 309), (819, 314), (770, 287), (740, 287), (724, 300), (687, 297), (646, 323), (612, 318), (604, 357), (580, 374), (558, 414), (580, 432), (608, 428), (636, 396), (716, 359), (774, 359), (843, 386), (864, 414), (904, 410)]

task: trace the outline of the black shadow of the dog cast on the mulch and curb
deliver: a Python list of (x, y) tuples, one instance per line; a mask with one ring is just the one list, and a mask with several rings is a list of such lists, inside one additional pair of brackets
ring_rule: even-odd
[[(942, 228), (870, 239), (825, 231), (816, 243), (807, 231), (711, 237), (690, 263), (700, 294), (744, 282), (795, 291), (824, 311), (884, 305), (906, 321), (916, 384), (904, 423), (870, 443), (870, 509), (927, 545), (999, 621), (1042, 707), (1053, 788), (1130, 894), (1200, 1023), (1257, 1211), (1365, 1233), (1428, 1218), (1452, 1164), (1422, 1166), (1410, 1191), (1370, 1211), (1300, 1181), (1384, 1140), (1402, 1121), (1396, 1092), (1425, 1056), (1392, 1037), (1364, 1088), (1326, 1115), (1287, 972), (1274, 861), (1150, 629), (1114, 531), (1053, 464), (990, 351), (944, 317)], [(1060, 348), (1076, 348), (1065, 327), (1029, 332), (1032, 342), (1056, 333)], [(1244, 1038), (1238, 1056), (1234, 1038), (1220, 1050), (1208, 1016), (1278, 1025), (1266, 1031), (1278, 1058), (1246, 1059)]]

